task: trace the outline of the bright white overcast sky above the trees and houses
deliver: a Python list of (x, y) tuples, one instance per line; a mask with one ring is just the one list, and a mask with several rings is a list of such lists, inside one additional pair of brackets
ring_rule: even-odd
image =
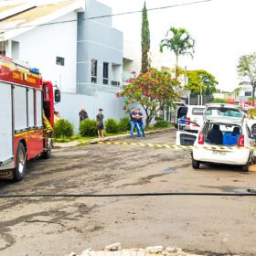
[[(98, 0), (112, 13), (141, 10), (144, 0)], [(197, 0), (146, 0), (147, 8), (196, 2)], [(212, 0), (210, 2), (148, 12), (151, 48), (170, 27), (185, 27), (196, 40), (194, 59), (181, 57), (187, 69), (206, 69), (219, 81), (218, 88), (233, 91), (239, 86), (237, 64), (241, 55), (256, 51), (256, 0)], [(141, 14), (113, 17), (113, 27), (140, 48)], [(175, 63), (175, 58), (170, 59)]]

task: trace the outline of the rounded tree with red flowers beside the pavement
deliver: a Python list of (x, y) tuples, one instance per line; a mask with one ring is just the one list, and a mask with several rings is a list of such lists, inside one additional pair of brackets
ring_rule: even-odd
[(162, 106), (169, 107), (178, 98), (175, 91), (178, 82), (167, 72), (150, 69), (128, 82), (130, 84), (117, 93), (117, 97), (125, 98), (124, 110), (129, 109), (133, 103), (141, 104), (146, 114), (146, 126), (151, 123)]

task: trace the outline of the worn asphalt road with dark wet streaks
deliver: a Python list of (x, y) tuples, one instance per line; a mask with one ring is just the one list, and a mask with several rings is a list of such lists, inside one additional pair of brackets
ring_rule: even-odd
[[(135, 142), (175, 143), (175, 131)], [(1, 195), (246, 192), (256, 173), (234, 166), (191, 167), (184, 150), (93, 144), (55, 149), (27, 165), (26, 179), (0, 182)], [(256, 197), (35, 197), (0, 199), (0, 255), (64, 255), (177, 246), (256, 255)]]

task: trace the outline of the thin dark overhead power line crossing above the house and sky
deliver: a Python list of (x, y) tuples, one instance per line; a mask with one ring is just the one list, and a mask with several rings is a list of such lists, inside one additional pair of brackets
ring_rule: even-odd
[[(196, 1), (196, 2), (184, 3), (184, 4), (166, 5), (166, 6), (149, 8), (149, 9), (147, 9), (147, 11), (151, 12), (151, 11), (164, 10), (164, 9), (186, 6), (186, 5), (197, 5), (197, 4), (207, 3), (207, 2), (211, 2), (211, 1), (213, 1), (213, 0), (201, 0), (201, 1)], [(69, 23), (69, 22), (93, 20), (93, 19), (100, 19), (100, 18), (111, 17), (111, 16), (125, 16), (125, 15), (132, 15), (132, 14), (138, 14), (138, 13), (142, 13), (142, 10), (123, 12), (123, 13), (117, 13), (117, 14), (105, 15), (105, 16), (91, 16), (91, 17), (86, 17), (86, 18), (82, 18), (82, 19), (79, 19), (79, 20), (71, 19), (71, 20), (64, 20), (64, 21), (59, 21), (59, 22), (58, 21), (57, 22), (50, 22), (50, 23), (46, 23), (46, 24), (35, 24), (35, 25), (27, 25), (27, 26), (20, 26), (20, 27), (6, 27), (4, 29), (0, 29), (0, 33), (4, 33), (6, 31), (19, 29), (19, 28), (43, 27), (43, 26), (49, 26), (49, 25), (64, 24), (64, 23)], [(0, 23), (1, 23), (1, 21), (0, 21)]]

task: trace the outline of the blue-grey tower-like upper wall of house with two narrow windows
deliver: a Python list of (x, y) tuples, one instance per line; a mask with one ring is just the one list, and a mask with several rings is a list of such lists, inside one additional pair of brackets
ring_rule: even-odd
[[(78, 14), (77, 91), (94, 95), (95, 88), (105, 91), (112, 80), (122, 81), (123, 33), (112, 28), (112, 9), (95, 0), (87, 0), (85, 12)], [(91, 83), (91, 59), (97, 59), (97, 83)], [(109, 63), (109, 84), (103, 85), (103, 62)], [(114, 66), (114, 69), (112, 67)], [(112, 74), (112, 72), (115, 74)], [(109, 89), (108, 89), (109, 90)]]

